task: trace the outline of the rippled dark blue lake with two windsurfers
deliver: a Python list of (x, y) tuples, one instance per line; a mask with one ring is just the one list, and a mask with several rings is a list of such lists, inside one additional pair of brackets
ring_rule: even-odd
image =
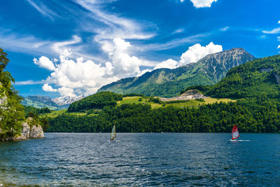
[(280, 134), (45, 133), (0, 142), (16, 186), (279, 186)]

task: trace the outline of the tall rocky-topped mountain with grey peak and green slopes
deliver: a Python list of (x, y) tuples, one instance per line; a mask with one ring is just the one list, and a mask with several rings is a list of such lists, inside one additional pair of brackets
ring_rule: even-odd
[(123, 78), (104, 85), (97, 92), (174, 97), (190, 85), (214, 85), (225, 77), (229, 69), (251, 60), (255, 57), (243, 48), (232, 48), (176, 69), (155, 69), (139, 77)]

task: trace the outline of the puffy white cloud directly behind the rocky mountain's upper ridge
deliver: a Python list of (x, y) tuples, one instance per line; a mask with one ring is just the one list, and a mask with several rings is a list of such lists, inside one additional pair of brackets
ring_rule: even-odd
[(207, 46), (201, 46), (200, 43), (197, 43), (190, 46), (188, 50), (181, 55), (180, 65), (197, 62), (206, 55), (218, 53), (222, 50), (223, 46), (215, 45), (213, 42), (209, 43)]

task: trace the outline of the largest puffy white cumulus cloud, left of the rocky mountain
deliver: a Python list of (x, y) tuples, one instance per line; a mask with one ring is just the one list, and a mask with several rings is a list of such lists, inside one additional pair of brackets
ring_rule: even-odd
[[(57, 89), (45, 84), (43, 90), (59, 92), (60, 95), (66, 96), (80, 95), (80, 93), (91, 95), (97, 92), (102, 85), (142, 73), (139, 68), (141, 60), (129, 55), (130, 42), (116, 38), (105, 45), (107, 46), (103, 49), (108, 53), (109, 62), (104, 64), (92, 60), (85, 61), (83, 57), (72, 60), (62, 51), (59, 60), (54, 59), (57, 61), (56, 65), (48, 68), (52, 70), (52, 73), (45, 80), (46, 83), (54, 83)], [(39, 60), (36, 60), (36, 64), (39, 66), (41, 64), (38, 62), (41, 58), (45, 59), (45, 57), (40, 57)], [(53, 65), (51, 60), (48, 59), (48, 62)]]

